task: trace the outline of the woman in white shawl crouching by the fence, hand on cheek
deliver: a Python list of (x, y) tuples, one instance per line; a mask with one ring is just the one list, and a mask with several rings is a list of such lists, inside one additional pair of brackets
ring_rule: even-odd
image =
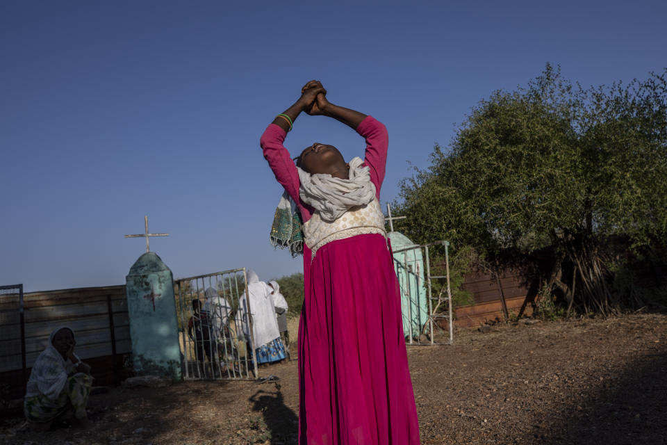
[(85, 406), (92, 376), (90, 366), (74, 354), (75, 345), (74, 330), (57, 327), (33, 364), (23, 411), (36, 430), (49, 430), (53, 422), (71, 419), (72, 415), (76, 426), (88, 426)]

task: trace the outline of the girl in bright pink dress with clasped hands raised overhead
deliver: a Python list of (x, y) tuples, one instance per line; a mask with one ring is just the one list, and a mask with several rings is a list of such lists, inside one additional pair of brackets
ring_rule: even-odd
[[(261, 147), (304, 221), (299, 444), (419, 443), (400, 294), (379, 193), (388, 136), (371, 116), (327, 101), (318, 81), (264, 131)], [(283, 146), (297, 116), (334, 118), (365, 138), (363, 161), (314, 143), (295, 165)]]

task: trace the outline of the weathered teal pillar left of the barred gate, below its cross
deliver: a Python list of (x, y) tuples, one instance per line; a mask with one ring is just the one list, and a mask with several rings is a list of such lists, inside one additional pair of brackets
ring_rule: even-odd
[(181, 380), (174, 277), (154, 252), (146, 252), (125, 277), (134, 371)]

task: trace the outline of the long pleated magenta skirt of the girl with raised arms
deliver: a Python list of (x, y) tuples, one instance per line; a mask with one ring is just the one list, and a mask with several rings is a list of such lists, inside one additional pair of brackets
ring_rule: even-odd
[(304, 286), (299, 444), (419, 444), (398, 282), (384, 236), (324, 245), (312, 263), (304, 261)]

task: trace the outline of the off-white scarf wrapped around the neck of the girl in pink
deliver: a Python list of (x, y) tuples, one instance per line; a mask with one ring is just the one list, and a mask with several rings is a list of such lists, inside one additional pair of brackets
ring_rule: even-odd
[(352, 207), (363, 206), (375, 197), (375, 186), (370, 181), (370, 168), (362, 167), (359, 156), (349, 161), (348, 179), (317, 173), (311, 175), (297, 167), (299, 197), (320, 213), (322, 220), (331, 222)]

